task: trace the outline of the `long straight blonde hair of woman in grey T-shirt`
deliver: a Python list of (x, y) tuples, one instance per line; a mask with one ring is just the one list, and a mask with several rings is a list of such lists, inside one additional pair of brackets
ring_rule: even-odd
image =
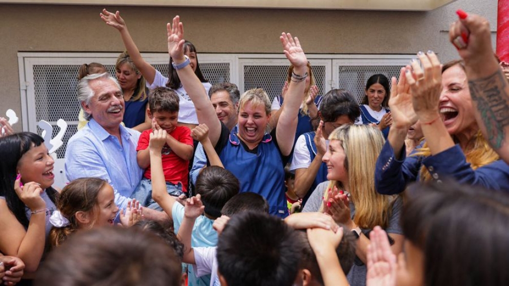
[[(376, 225), (387, 227), (396, 196), (384, 196), (375, 189), (375, 166), (385, 142), (382, 133), (369, 125), (343, 125), (336, 128), (329, 140), (340, 141), (345, 151), (345, 169), (348, 172), (348, 192), (355, 206), (354, 222), (362, 228)], [(330, 181), (327, 190), (341, 187)], [(324, 194), (327, 200), (328, 192)], [(320, 206), (323, 212), (323, 201)]]

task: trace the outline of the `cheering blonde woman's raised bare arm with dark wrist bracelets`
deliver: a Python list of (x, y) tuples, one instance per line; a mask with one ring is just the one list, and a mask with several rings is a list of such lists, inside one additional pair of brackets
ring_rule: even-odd
[(281, 154), (288, 156), (293, 147), (293, 140), (297, 130), (297, 116), (301, 103), (304, 101), (304, 88), (307, 77), (307, 59), (301, 48), (299, 39), (292, 38), (290, 33), (282, 33), (280, 36), (286, 58), (293, 65), (293, 74), (285, 94), (281, 115), (279, 116), (276, 138), (278, 139)]

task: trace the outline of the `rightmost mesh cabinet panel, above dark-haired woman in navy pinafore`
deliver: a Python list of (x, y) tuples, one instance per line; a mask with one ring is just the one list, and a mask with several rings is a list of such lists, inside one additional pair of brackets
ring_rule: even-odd
[(397, 66), (339, 66), (338, 88), (349, 90), (359, 104), (364, 98), (366, 82), (373, 74), (382, 73), (387, 79), (399, 77), (402, 65)]

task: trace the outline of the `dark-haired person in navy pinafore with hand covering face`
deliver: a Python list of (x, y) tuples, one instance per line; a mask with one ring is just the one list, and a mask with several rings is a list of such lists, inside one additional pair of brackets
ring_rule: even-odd
[(295, 194), (307, 199), (321, 182), (327, 181), (327, 166), (322, 162), (332, 130), (343, 124), (353, 124), (360, 116), (359, 104), (346, 89), (332, 89), (323, 96), (318, 117), (320, 125), (316, 131), (299, 136), (289, 168), (295, 172)]

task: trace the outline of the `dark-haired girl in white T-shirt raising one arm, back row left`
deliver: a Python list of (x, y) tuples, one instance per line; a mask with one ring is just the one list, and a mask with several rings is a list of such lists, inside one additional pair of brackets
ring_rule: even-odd
[[(196, 116), (196, 111), (194, 109), (194, 104), (187, 95), (187, 91), (181, 84), (181, 80), (175, 71), (173, 66), (173, 60), (170, 56), (170, 63), (168, 68), (168, 78), (164, 77), (158, 70), (156, 70), (152, 65), (147, 63), (143, 58), (134, 44), (129, 31), (127, 30), (127, 25), (124, 19), (120, 16), (120, 12), (116, 11), (116, 13), (108, 12), (106, 9), (103, 9), (101, 13), (101, 18), (103, 21), (109, 25), (119, 30), (120, 35), (122, 36), (122, 41), (126, 47), (127, 52), (136, 67), (140, 70), (141, 74), (147, 81), (147, 87), (153, 89), (158, 86), (168, 86), (174, 89), (177, 94), (179, 94), (180, 99), (180, 110), (179, 110), (179, 124), (181, 126), (187, 126), (190, 129), (194, 128), (198, 125), (198, 118)], [(186, 61), (189, 61), (189, 66), (194, 71), (194, 74), (197, 75), (200, 82), (202, 82), (203, 87), (205, 88), (207, 94), (212, 86), (209, 84), (205, 78), (203, 77), (202, 71), (200, 70), (200, 65), (198, 64), (197, 51), (191, 42), (186, 41), (184, 43), (184, 54), (186, 56)]]

